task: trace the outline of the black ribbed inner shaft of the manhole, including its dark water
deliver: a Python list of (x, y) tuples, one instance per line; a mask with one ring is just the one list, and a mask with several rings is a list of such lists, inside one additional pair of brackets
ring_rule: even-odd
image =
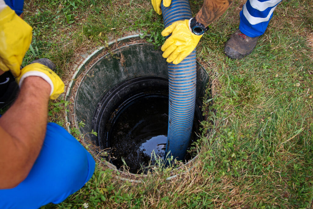
[[(192, 144), (203, 119), (200, 107), (197, 102), (186, 162), (196, 155)], [(92, 140), (118, 169), (126, 164), (129, 172), (146, 174), (164, 157), (167, 123), (168, 80), (134, 78), (114, 86), (99, 102), (92, 123), (98, 135)]]

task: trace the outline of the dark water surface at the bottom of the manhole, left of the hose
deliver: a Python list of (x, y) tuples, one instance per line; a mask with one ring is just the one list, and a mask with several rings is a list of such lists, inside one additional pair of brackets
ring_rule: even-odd
[[(146, 173), (154, 165), (151, 158), (164, 157), (167, 141), (168, 97), (145, 96), (123, 107), (109, 134), (111, 163), (120, 168), (125, 160), (131, 173)], [(190, 156), (189, 156), (190, 157)]]

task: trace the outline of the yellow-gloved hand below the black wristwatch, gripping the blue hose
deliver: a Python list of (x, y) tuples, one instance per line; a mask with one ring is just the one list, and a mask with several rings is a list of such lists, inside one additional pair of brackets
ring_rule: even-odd
[(185, 59), (197, 46), (202, 35), (191, 32), (189, 20), (177, 21), (162, 31), (162, 36), (172, 35), (164, 42), (161, 50), (167, 62), (174, 65)]

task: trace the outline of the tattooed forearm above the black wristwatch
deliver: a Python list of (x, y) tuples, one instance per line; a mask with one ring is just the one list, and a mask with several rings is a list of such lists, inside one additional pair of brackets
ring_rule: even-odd
[(215, 19), (221, 16), (233, 0), (204, 0), (203, 6), (196, 15), (196, 20), (207, 27)]

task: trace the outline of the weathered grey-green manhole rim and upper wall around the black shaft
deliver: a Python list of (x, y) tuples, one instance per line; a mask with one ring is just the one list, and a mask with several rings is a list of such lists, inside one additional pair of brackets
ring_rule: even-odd
[[(140, 53), (138, 53), (138, 57), (132, 57), (132, 60), (137, 60), (138, 64), (136, 66), (126, 66), (125, 60), (128, 57), (124, 57), (123, 55), (119, 57), (117, 63), (111, 63), (111, 65), (118, 65), (116, 72), (105, 72), (99, 70), (99, 60), (105, 59), (106, 56), (111, 55), (116, 50), (123, 50), (130, 47), (135, 47)], [(146, 51), (145, 51), (146, 50)], [(135, 53), (129, 53), (129, 56), (136, 56)], [(151, 59), (151, 57), (147, 57), (148, 54), (156, 59)], [(144, 66), (140, 60), (153, 60), (152, 62), (156, 62), (156, 66), (148, 66), (145, 70), (142, 70), (142, 66)], [(97, 64), (98, 63), (98, 64)], [(106, 62), (102, 62), (103, 63)], [(106, 65), (106, 64), (104, 64)], [(115, 85), (132, 79), (136, 77), (142, 76), (158, 76), (164, 79), (167, 79), (167, 63), (165, 59), (162, 59), (162, 52), (160, 50), (154, 49), (152, 44), (149, 44), (140, 38), (140, 34), (126, 36), (124, 38), (118, 39), (116, 41), (109, 43), (109, 50), (105, 47), (101, 47), (98, 50), (91, 53), (80, 66), (77, 67), (70, 83), (67, 88), (65, 100), (71, 102), (69, 106), (69, 111), (65, 112), (65, 121), (67, 124), (67, 129), (70, 132), (69, 123), (72, 126), (75, 126), (80, 132), (85, 135), (84, 143), (92, 144), (90, 133), (92, 130), (92, 120), (95, 114), (95, 110), (97, 109), (98, 103), (101, 98), (104, 97), (106, 91), (111, 89)], [(97, 70), (98, 69), (98, 70)], [(138, 70), (139, 69), (139, 70)], [(105, 78), (105, 81), (103, 80)], [(101, 80), (102, 79), (102, 80)], [(206, 71), (202, 68), (202, 66), (197, 65), (197, 98), (202, 104), (202, 98), (205, 96), (205, 88), (208, 83), (208, 75)], [(88, 87), (86, 87), (88, 86)], [(100, 91), (99, 91), (100, 90)], [(95, 91), (99, 91), (97, 93), (97, 97), (90, 97), (90, 95), (94, 94)], [(84, 102), (81, 98), (84, 98)], [(86, 100), (86, 101), (85, 101)], [(83, 121), (85, 123), (85, 127), (78, 127), (78, 123)], [(91, 148), (94, 153), (95, 158), (98, 162), (101, 162), (105, 167), (113, 169), (115, 171), (115, 178), (121, 180), (128, 180), (130, 182), (142, 182), (147, 175), (138, 175), (132, 174), (129, 172), (124, 172), (118, 170), (117, 167), (111, 164), (108, 161), (105, 161), (103, 158), (99, 157), (97, 153), (99, 153), (96, 147)], [(179, 170), (190, 170), (194, 166), (198, 155), (194, 158), (190, 159), (183, 167), (179, 167), (173, 170), (171, 176), (167, 178), (170, 180), (177, 176), (177, 171)]]

